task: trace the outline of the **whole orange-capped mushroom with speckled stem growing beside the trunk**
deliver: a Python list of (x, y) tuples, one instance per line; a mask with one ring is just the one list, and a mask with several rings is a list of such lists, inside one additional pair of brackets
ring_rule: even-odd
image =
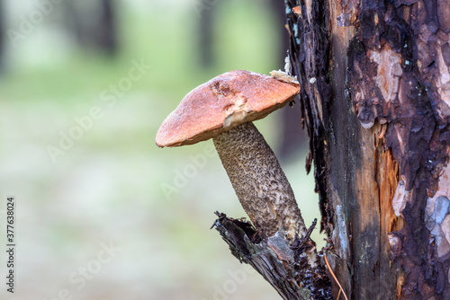
[[(292, 79), (292, 77), (290, 77)], [(231, 71), (188, 93), (157, 131), (157, 146), (212, 138), (233, 189), (252, 223), (267, 237), (293, 240), (306, 228), (293, 189), (252, 121), (282, 108), (300, 92), (292, 80)]]

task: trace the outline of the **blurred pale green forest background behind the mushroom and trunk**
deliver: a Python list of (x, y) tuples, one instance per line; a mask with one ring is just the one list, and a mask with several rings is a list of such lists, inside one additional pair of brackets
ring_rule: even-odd
[[(0, 299), (278, 297), (210, 230), (216, 210), (245, 216), (211, 140), (154, 139), (198, 84), (283, 69), (283, 15), (268, 0), (0, 0), (2, 228), (17, 203), (15, 293), (3, 279)], [(256, 125), (310, 225), (299, 109)]]

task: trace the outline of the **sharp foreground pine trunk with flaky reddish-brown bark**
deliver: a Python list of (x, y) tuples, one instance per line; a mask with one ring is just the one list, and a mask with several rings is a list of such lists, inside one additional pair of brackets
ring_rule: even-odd
[(450, 299), (450, 1), (287, 4), (331, 268), (351, 299)]

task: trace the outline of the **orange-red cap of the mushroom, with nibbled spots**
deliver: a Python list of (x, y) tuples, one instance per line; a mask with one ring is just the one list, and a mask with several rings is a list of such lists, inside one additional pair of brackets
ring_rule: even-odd
[(268, 75), (231, 71), (188, 93), (157, 130), (157, 146), (192, 145), (265, 118), (300, 92), (300, 85)]

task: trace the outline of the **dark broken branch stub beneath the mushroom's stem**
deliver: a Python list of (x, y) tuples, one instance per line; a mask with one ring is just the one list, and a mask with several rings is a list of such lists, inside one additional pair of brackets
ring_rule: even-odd
[(256, 269), (284, 299), (332, 299), (325, 269), (320, 263), (311, 269), (305, 258), (304, 251), (311, 251), (313, 245), (309, 236), (296, 240), (297, 247), (291, 248), (280, 233), (262, 239), (248, 222), (216, 215), (219, 218), (213, 227), (228, 243), (231, 253)]

